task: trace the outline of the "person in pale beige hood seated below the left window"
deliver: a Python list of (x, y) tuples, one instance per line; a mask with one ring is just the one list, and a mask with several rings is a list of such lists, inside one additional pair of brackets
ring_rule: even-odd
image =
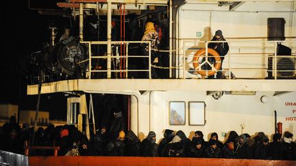
[(178, 135), (175, 135), (175, 137), (173, 137), (173, 140), (165, 147), (165, 156), (185, 157), (186, 152), (181, 141), (182, 139)]

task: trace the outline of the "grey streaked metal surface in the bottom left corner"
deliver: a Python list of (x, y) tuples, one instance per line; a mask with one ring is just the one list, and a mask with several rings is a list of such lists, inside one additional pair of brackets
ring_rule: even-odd
[(29, 162), (27, 156), (0, 150), (0, 165), (27, 166)]

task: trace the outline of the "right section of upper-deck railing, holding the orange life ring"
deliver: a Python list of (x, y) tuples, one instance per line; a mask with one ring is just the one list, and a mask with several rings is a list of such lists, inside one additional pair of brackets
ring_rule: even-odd
[[(229, 51), (223, 60), (222, 70), (214, 68), (209, 58), (214, 56), (208, 53), (208, 44), (227, 42)], [(291, 55), (277, 55), (277, 44), (288, 46)], [(262, 41), (262, 40), (229, 40), (229, 41), (197, 41), (186, 40), (182, 42), (182, 53), (177, 61), (179, 79), (207, 79), (213, 76), (201, 75), (204, 65), (210, 66), (210, 70), (222, 72), (223, 79), (295, 79), (296, 77), (296, 41)], [(202, 61), (196, 59), (195, 53), (206, 48)], [(276, 59), (276, 60), (275, 60)], [(199, 63), (198, 68), (193, 64)], [(182, 64), (182, 65), (181, 65)], [(207, 73), (207, 72), (206, 72)], [(214, 76), (216, 77), (216, 76)]]

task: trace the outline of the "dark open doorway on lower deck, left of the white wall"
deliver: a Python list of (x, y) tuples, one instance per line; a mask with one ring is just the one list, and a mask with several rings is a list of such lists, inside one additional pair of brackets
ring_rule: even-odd
[(101, 128), (106, 128), (110, 137), (117, 138), (119, 132), (125, 133), (130, 130), (130, 96), (123, 94), (89, 94), (88, 110), (93, 117), (90, 117), (90, 135), (93, 135)]

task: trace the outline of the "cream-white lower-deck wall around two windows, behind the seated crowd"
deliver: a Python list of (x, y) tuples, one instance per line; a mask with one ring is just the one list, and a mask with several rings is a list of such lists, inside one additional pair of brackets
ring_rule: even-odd
[[(138, 133), (140, 139), (147, 137), (149, 130), (156, 132), (157, 141), (163, 137), (164, 129), (183, 130), (187, 137), (193, 137), (196, 130), (204, 133), (207, 140), (210, 133), (216, 132), (221, 141), (225, 140), (223, 132), (235, 130), (238, 135), (249, 133), (256, 135), (263, 131), (271, 135), (275, 133), (275, 116), (277, 122), (282, 122), (282, 130), (296, 131), (296, 121), (286, 120), (286, 117), (295, 117), (295, 106), (286, 106), (286, 102), (296, 101), (296, 92), (289, 92), (280, 96), (273, 96), (274, 92), (256, 92), (255, 95), (230, 95), (224, 94), (219, 100), (206, 95), (206, 92), (168, 91), (147, 92), (140, 96), (132, 97), (132, 130)], [(260, 101), (262, 96), (268, 97), (268, 102)], [(150, 100), (150, 102), (149, 102)], [(186, 102), (185, 125), (169, 124), (169, 102)], [(204, 101), (206, 103), (206, 124), (204, 126), (190, 126), (188, 124), (188, 102)], [(138, 111), (138, 115), (137, 115)], [(294, 115), (293, 115), (294, 114)], [(138, 119), (138, 121), (136, 120)], [(245, 128), (242, 129), (241, 126)]]

